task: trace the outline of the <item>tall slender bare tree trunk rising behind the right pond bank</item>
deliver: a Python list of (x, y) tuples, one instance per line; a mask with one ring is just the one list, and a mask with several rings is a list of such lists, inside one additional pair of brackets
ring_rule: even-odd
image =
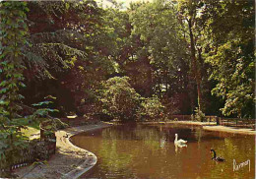
[(190, 37), (190, 52), (191, 52), (191, 64), (192, 64), (192, 70), (193, 74), (196, 79), (196, 84), (197, 84), (197, 99), (198, 99), (198, 108), (199, 110), (202, 111), (201, 109), (201, 102), (202, 102), (202, 93), (201, 93), (201, 75), (200, 71), (197, 68), (197, 59), (196, 59), (196, 48), (195, 48), (195, 41), (194, 41), (194, 34), (192, 31), (192, 19), (190, 18), (188, 20), (188, 28), (189, 28), (189, 37)]

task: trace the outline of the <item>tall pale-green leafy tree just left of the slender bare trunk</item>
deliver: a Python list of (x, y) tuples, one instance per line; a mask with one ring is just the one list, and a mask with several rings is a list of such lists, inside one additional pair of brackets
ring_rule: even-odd
[[(166, 105), (176, 103), (179, 111), (187, 113), (190, 112), (190, 102), (183, 100), (183, 97), (188, 100), (191, 91), (187, 90), (189, 54), (176, 14), (176, 5), (165, 1), (132, 4), (129, 10), (132, 32), (143, 41), (135, 59), (139, 60), (143, 54), (151, 68), (152, 86), (149, 88), (160, 98), (167, 97)], [(136, 65), (136, 68), (141, 66)]]

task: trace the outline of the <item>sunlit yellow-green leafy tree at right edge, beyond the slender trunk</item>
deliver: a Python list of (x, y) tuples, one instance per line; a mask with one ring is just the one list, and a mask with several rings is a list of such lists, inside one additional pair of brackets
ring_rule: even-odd
[(202, 24), (209, 39), (207, 61), (213, 94), (224, 99), (226, 116), (254, 117), (254, 3), (204, 1)]

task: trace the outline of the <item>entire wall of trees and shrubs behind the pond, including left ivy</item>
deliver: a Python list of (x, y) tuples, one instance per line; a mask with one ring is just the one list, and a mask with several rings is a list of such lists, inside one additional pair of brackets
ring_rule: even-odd
[(0, 3), (0, 158), (24, 140), (24, 106), (46, 95), (54, 105), (33, 107), (60, 116), (254, 118), (253, 1), (112, 3)]

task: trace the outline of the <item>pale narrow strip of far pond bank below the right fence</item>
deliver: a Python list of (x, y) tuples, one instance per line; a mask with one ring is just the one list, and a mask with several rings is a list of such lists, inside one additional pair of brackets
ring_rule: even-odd
[(166, 122), (142, 122), (144, 124), (183, 124), (183, 125), (197, 125), (202, 126), (204, 130), (207, 131), (219, 131), (234, 134), (243, 135), (256, 135), (254, 129), (248, 128), (236, 128), (228, 126), (217, 126), (216, 122), (197, 122), (197, 121), (166, 121)]

